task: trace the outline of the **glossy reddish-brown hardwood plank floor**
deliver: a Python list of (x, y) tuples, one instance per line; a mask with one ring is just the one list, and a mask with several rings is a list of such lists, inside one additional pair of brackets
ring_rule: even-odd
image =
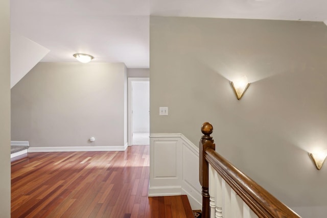
[(193, 217), (186, 196), (147, 197), (149, 146), (29, 153), (11, 168), (13, 218)]

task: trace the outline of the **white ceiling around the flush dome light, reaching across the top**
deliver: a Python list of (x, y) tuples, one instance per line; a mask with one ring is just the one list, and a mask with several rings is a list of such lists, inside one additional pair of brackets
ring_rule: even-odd
[(11, 30), (50, 50), (42, 61), (149, 67), (149, 16), (327, 20), (325, 0), (11, 0)]

